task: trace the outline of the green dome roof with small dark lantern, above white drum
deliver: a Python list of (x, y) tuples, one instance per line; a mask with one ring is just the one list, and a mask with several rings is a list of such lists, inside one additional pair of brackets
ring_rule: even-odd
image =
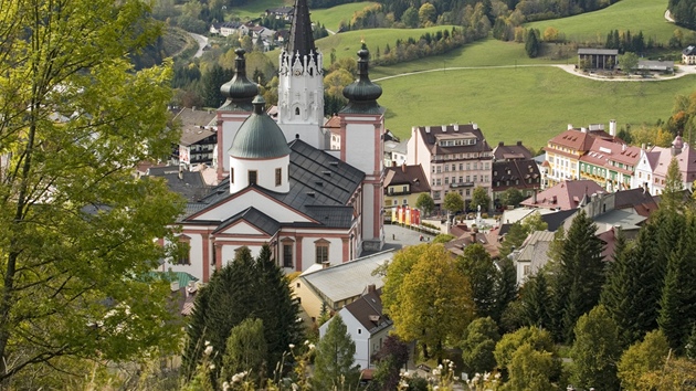
[(254, 113), (240, 126), (228, 154), (234, 158), (271, 159), (291, 152), (278, 124), (264, 112), (266, 102), (256, 96)]

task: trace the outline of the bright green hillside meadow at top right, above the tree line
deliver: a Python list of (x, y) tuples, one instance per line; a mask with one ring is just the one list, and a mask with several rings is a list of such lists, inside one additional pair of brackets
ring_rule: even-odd
[(679, 28), (665, 20), (666, 9), (666, 0), (621, 0), (600, 11), (528, 23), (525, 27), (539, 29), (541, 33), (546, 28), (555, 27), (567, 39), (578, 42), (604, 42), (610, 30), (631, 30), (632, 34), (642, 30), (645, 42), (653, 38), (655, 42), (667, 43), (674, 30)]

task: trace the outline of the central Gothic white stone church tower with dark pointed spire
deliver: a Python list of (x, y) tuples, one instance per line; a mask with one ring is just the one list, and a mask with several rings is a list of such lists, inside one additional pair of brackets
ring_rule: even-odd
[(323, 55), (314, 44), (306, 0), (295, 0), (287, 46), (280, 56), (278, 125), (289, 142), (299, 138), (328, 149), (324, 125)]

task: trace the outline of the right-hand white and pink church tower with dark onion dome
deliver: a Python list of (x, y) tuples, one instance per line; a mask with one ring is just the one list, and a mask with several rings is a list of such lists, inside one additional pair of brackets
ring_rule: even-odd
[(344, 88), (348, 105), (340, 120), (340, 159), (365, 172), (362, 184), (362, 250), (379, 251), (384, 244), (382, 215), (382, 168), (384, 156), (384, 109), (377, 103), (382, 87), (368, 75), (370, 52), (358, 52), (358, 80)]

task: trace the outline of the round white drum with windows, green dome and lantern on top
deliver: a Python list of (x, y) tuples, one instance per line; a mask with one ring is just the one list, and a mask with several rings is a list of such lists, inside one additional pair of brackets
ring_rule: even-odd
[(289, 154), (283, 130), (265, 113), (265, 101), (256, 96), (254, 112), (242, 124), (228, 151), (230, 192), (255, 184), (267, 190), (289, 191)]

